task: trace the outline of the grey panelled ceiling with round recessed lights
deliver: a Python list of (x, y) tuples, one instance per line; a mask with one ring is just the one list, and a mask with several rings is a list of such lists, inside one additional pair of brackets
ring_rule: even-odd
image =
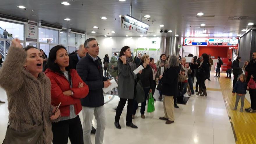
[[(0, 2), (0, 13), (21, 17), (33, 21), (58, 23), (65, 28), (86, 31), (94, 36), (138, 36), (138, 34), (121, 30), (119, 15), (130, 13), (140, 19), (150, 15), (150, 20), (144, 17), (142, 21), (149, 24), (148, 36), (172, 37), (179, 36), (210, 36), (234, 37), (242, 34), (242, 29), (248, 29), (247, 24), (256, 24), (256, 0), (67, 0), (71, 5), (61, 4), (62, 0), (8, 0)], [(17, 8), (22, 5), (26, 10)], [(34, 11), (32, 11), (34, 10)], [(203, 12), (204, 16), (196, 17)], [(36, 15), (36, 16), (32, 16)], [(100, 17), (107, 17), (106, 20)], [(247, 16), (243, 20), (232, 20), (233, 17)], [(70, 18), (71, 21), (64, 20)], [(152, 20), (155, 20), (152, 23)], [(200, 24), (206, 24), (200, 27)], [(159, 27), (163, 24), (164, 27)], [(93, 26), (99, 27), (94, 29)], [(160, 30), (172, 30), (171, 33), (160, 33)], [(207, 32), (203, 33), (203, 30)], [(96, 33), (91, 33), (95, 31)], [(115, 31), (115, 33), (111, 33)]]

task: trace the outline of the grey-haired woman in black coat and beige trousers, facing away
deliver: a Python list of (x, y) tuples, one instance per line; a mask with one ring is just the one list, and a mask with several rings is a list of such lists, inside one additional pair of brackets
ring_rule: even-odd
[(177, 95), (178, 90), (178, 74), (180, 73), (179, 62), (176, 56), (169, 58), (169, 67), (160, 75), (162, 81), (162, 95), (164, 116), (160, 120), (166, 120), (166, 124), (174, 122), (174, 100), (173, 96)]

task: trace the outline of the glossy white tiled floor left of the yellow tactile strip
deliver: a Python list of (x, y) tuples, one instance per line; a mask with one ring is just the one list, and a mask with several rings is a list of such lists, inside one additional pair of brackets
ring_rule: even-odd
[[(218, 78), (211, 77), (211, 81), (206, 81), (206, 85), (207, 88), (220, 89)], [(163, 116), (163, 103), (160, 101), (155, 102), (153, 113), (145, 113), (146, 119), (141, 119), (137, 111), (133, 122), (138, 129), (125, 126), (125, 107), (120, 118), (121, 130), (114, 127), (113, 108), (117, 106), (119, 100), (115, 97), (110, 103), (105, 104), (107, 127), (104, 144), (235, 144), (221, 91), (207, 93), (207, 97), (191, 97), (186, 105), (179, 104), (180, 108), (175, 109), (175, 122), (171, 125), (159, 120), (159, 117)], [(158, 98), (157, 94), (158, 91), (154, 97)], [(0, 89), (0, 99), (6, 101), (6, 94), (2, 89)], [(7, 103), (1, 104), (0, 143), (6, 132), (7, 117)], [(82, 118), (81, 115), (80, 117)]]

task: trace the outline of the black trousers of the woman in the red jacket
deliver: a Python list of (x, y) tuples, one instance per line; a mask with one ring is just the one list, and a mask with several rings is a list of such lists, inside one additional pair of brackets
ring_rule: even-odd
[(83, 144), (83, 128), (79, 116), (70, 120), (52, 122), (53, 144), (67, 144), (68, 138), (72, 144)]

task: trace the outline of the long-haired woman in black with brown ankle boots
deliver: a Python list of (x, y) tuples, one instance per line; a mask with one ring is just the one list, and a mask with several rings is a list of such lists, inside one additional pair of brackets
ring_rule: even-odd
[[(206, 79), (206, 76), (209, 74), (210, 63), (209, 63), (209, 56), (207, 54), (202, 54), (202, 57), (203, 57), (203, 60), (200, 62), (200, 65), (198, 67), (198, 71), (199, 71), (198, 74), (200, 77), (198, 94), (200, 94), (200, 96), (207, 96), (205, 79)], [(203, 94), (201, 95), (202, 90), (203, 90)]]

